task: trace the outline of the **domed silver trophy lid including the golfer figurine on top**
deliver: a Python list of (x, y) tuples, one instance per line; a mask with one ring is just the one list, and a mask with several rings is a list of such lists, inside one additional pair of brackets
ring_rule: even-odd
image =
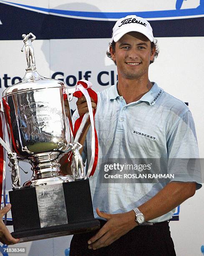
[[(26, 49), (26, 60), (28, 67), (25, 69), (26, 73), (20, 82), (11, 85), (3, 91), (3, 97), (14, 95), (22, 92), (32, 91), (32, 90), (40, 90), (45, 88), (53, 88), (53, 87), (64, 87), (65, 84), (61, 80), (45, 78), (38, 74), (35, 67), (35, 56), (34, 49), (32, 46), (32, 42), (35, 40), (36, 36), (33, 33), (29, 33), (28, 35), (23, 34), (23, 47)], [(23, 48), (21, 49), (23, 52)]]

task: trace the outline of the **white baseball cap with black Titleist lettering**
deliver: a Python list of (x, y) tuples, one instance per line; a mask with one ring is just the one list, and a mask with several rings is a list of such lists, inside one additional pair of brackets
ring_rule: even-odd
[(145, 35), (151, 42), (154, 41), (151, 25), (144, 18), (136, 15), (128, 15), (119, 19), (113, 27), (113, 33), (111, 37), (111, 43), (117, 42), (124, 34), (136, 31)]

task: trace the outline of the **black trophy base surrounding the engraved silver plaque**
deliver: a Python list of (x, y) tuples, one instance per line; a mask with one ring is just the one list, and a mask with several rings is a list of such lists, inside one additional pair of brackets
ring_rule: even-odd
[[(11, 235), (20, 238), (20, 242), (28, 242), (85, 233), (100, 228), (99, 220), (93, 216), (88, 179), (63, 183), (63, 193), (68, 224), (49, 225), (48, 219), (48, 226), (41, 228), (35, 187), (10, 191), (14, 229)], [(57, 219), (58, 216), (56, 223), (59, 223)]]

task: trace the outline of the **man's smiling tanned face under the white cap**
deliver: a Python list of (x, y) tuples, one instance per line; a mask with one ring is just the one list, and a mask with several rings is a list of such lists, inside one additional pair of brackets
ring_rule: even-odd
[(138, 79), (148, 78), (150, 61), (154, 59), (155, 49), (151, 42), (141, 33), (126, 33), (116, 42), (115, 51), (110, 47), (113, 61), (117, 63), (118, 78)]

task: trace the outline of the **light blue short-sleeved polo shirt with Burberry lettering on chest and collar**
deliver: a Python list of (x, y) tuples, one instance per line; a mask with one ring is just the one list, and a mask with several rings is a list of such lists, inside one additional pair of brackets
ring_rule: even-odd
[[(126, 104), (118, 95), (117, 84), (98, 92), (95, 125), (98, 135), (98, 159), (162, 159), (164, 172), (176, 173), (171, 181), (196, 182), (201, 187), (199, 170), (189, 175), (186, 166), (175, 170), (170, 159), (199, 158), (194, 121), (184, 102), (169, 95), (156, 83), (136, 102)], [(78, 111), (73, 114), (73, 123)], [(82, 153), (91, 159), (91, 128)], [(156, 195), (164, 183), (101, 183), (99, 161), (89, 179), (95, 218), (96, 207), (107, 213), (122, 213), (139, 207)], [(174, 210), (154, 223), (171, 219)]]

